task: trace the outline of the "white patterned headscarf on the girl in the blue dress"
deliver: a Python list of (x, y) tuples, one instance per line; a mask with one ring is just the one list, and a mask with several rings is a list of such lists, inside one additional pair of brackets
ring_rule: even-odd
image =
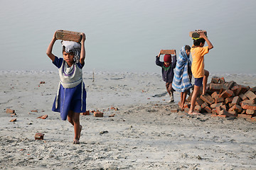
[(73, 52), (75, 55), (74, 61), (79, 62), (80, 52), (81, 52), (81, 44), (79, 42), (65, 41), (65, 40), (62, 40), (61, 44), (65, 47), (65, 52)]

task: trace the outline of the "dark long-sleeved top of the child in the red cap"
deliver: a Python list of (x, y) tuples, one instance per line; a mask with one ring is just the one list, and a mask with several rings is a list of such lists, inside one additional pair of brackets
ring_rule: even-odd
[(160, 62), (159, 58), (160, 57), (156, 56), (156, 65), (161, 67), (161, 72), (162, 72), (163, 80), (166, 81), (166, 83), (172, 83), (172, 81), (174, 79), (174, 69), (176, 67), (176, 62), (177, 62), (176, 55), (172, 56), (172, 60), (171, 60), (172, 62), (170, 64), (170, 68), (169, 69), (167, 69), (164, 66), (164, 62)]

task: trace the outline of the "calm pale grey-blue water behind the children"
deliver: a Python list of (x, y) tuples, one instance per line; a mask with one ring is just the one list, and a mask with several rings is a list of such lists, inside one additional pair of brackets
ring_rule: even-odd
[[(1, 0), (1, 70), (56, 70), (46, 55), (55, 30), (84, 32), (84, 71), (160, 72), (161, 49), (192, 45), (188, 32), (208, 31), (212, 73), (256, 74), (254, 0)], [(53, 53), (62, 56), (60, 40)]]

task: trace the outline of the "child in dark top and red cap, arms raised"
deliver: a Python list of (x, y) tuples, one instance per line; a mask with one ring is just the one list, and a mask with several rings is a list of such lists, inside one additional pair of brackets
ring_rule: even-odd
[(172, 88), (172, 81), (174, 79), (174, 69), (176, 67), (176, 50), (174, 56), (164, 55), (164, 62), (160, 61), (161, 52), (156, 56), (156, 65), (161, 67), (162, 78), (166, 82), (166, 90), (170, 95), (170, 101), (174, 102), (174, 89)]

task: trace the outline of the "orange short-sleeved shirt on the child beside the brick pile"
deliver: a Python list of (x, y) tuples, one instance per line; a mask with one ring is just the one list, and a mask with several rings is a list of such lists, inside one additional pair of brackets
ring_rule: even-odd
[(201, 78), (204, 76), (204, 55), (209, 52), (208, 46), (206, 47), (191, 47), (192, 65), (191, 71), (193, 77)]

